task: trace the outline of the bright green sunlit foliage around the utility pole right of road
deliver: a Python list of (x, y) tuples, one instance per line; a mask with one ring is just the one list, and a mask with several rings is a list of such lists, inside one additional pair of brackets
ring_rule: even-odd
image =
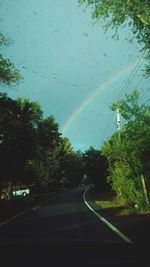
[(108, 159), (108, 181), (117, 196), (142, 208), (146, 203), (141, 175), (150, 189), (150, 106), (140, 106), (138, 96), (133, 92), (112, 105), (113, 110), (119, 108), (127, 122), (120, 134), (113, 134), (104, 143), (102, 153)]

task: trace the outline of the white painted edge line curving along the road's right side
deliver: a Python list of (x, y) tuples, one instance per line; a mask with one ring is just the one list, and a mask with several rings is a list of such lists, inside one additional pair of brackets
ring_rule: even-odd
[(121, 237), (125, 242), (132, 243), (132, 241), (126, 237), (120, 230), (118, 230), (114, 225), (112, 225), (108, 220), (106, 220), (103, 216), (101, 216), (98, 212), (96, 212), (86, 201), (85, 195), (87, 192), (88, 188), (85, 190), (83, 194), (83, 200), (86, 206), (104, 223), (106, 224), (112, 231), (114, 231), (119, 237)]

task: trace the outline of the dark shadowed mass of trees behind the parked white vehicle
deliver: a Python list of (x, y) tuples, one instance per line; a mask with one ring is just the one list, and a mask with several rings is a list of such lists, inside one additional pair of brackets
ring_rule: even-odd
[(81, 183), (82, 156), (62, 138), (51, 115), (43, 118), (38, 102), (0, 93), (0, 185), (44, 188)]

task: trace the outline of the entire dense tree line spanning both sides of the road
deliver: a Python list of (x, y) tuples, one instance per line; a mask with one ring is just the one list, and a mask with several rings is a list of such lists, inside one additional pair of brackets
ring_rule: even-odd
[[(102, 151), (75, 152), (52, 115), (38, 102), (0, 93), (0, 187), (26, 184), (37, 190), (93, 184), (139, 208), (147, 205), (142, 177), (150, 190), (150, 105), (134, 91), (112, 105), (126, 123), (105, 141)], [(41, 189), (40, 189), (41, 190)]]

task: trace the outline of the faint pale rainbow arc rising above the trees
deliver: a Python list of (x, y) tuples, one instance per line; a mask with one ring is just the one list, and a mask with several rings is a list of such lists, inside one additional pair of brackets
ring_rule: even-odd
[(73, 123), (73, 121), (78, 117), (78, 115), (86, 108), (86, 106), (89, 103), (91, 103), (96, 98), (96, 96), (100, 92), (102, 92), (110, 84), (119, 80), (121, 78), (121, 76), (123, 76), (124, 74), (129, 72), (133, 67), (136, 66), (138, 61), (139, 61), (139, 59), (138, 60), (136, 59), (136, 61), (132, 61), (131, 63), (126, 64), (119, 71), (118, 70), (115, 71), (107, 80), (104, 80), (99, 86), (97, 86), (96, 89), (90, 95), (88, 95), (81, 102), (81, 104), (71, 113), (69, 118), (66, 120), (66, 122), (63, 124), (63, 126), (60, 128), (60, 131), (62, 133), (64, 133), (68, 129), (68, 127)]

